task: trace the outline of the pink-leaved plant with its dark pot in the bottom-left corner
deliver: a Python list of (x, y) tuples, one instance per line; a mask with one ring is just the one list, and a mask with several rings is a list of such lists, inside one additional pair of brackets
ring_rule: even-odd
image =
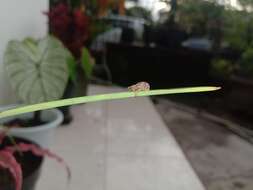
[(0, 133), (0, 187), (1, 190), (34, 190), (44, 156), (54, 158), (70, 170), (62, 158), (22, 138)]

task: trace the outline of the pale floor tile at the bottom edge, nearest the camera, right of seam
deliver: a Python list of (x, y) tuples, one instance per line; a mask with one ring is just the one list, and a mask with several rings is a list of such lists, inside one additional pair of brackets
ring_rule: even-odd
[(190, 166), (172, 157), (109, 156), (106, 190), (203, 190)]

